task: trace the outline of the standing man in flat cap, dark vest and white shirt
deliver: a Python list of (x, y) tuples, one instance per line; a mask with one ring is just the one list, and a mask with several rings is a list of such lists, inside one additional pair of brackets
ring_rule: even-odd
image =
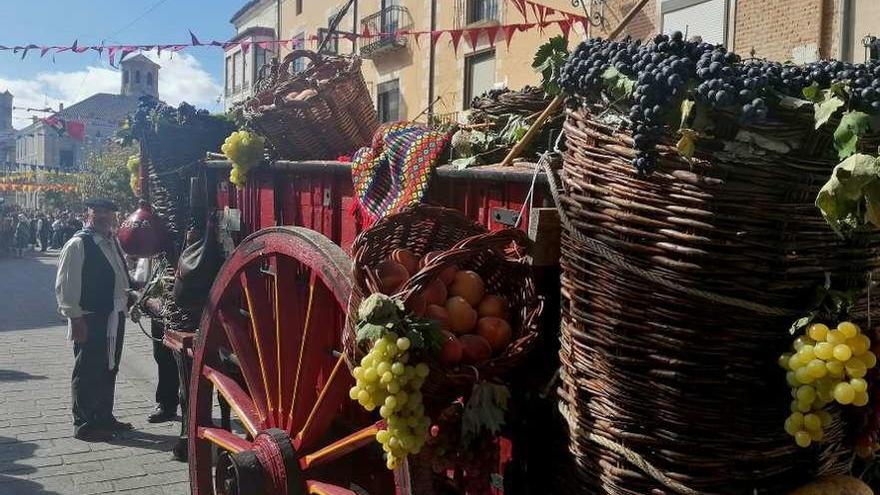
[(116, 205), (97, 198), (85, 204), (84, 228), (61, 249), (55, 295), (73, 341), (74, 437), (102, 441), (131, 429), (113, 416), (129, 280), (112, 233)]

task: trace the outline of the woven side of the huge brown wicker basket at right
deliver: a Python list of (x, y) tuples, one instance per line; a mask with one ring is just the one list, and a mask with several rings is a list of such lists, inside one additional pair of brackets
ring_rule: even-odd
[[(799, 123), (773, 126), (810, 139)], [(645, 178), (627, 131), (579, 106), (565, 132), (570, 480), (596, 494), (779, 494), (846, 472), (839, 411), (820, 447), (799, 449), (783, 430), (790, 395), (776, 365), (826, 273), (834, 288), (861, 287), (880, 265), (880, 236), (844, 243), (813, 204), (836, 161), (705, 139), (688, 163), (667, 139)], [(866, 313), (862, 301), (852, 316), (864, 327)]]

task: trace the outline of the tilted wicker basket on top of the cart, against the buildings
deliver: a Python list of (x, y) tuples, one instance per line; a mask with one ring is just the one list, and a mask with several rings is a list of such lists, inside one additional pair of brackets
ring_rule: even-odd
[[(300, 58), (311, 65), (289, 75), (288, 67)], [(359, 58), (295, 50), (268, 67), (243, 114), (276, 158), (334, 159), (370, 143), (379, 119)]]

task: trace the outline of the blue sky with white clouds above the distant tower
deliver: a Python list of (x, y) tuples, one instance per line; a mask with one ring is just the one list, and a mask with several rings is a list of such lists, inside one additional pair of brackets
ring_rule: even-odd
[[(78, 46), (188, 43), (189, 30), (202, 41), (234, 35), (229, 18), (246, 0), (0, 0), (0, 45)], [(221, 110), (223, 49), (193, 47), (174, 54), (144, 53), (159, 63), (159, 97), (177, 105), (186, 101)], [(118, 55), (117, 55), (118, 57)], [(33, 50), (0, 51), (0, 93), (9, 90), (13, 105), (58, 109), (95, 93), (118, 93), (121, 77), (106, 52), (47, 54)], [(13, 111), (12, 125), (27, 126), (44, 113)]]

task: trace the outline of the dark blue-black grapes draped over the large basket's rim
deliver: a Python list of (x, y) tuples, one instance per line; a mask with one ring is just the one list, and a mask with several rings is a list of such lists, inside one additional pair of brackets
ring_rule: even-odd
[(683, 99), (723, 109), (748, 125), (767, 118), (770, 105), (783, 96), (803, 98), (807, 87), (826, 89), (843, 83), (848, 108), (880, 112), (878, 62), (794, 65), (742, 60), (723, 46), (685, 40), (681, 32), (657, 35), (644, 44), (591, 38), (571, 53), (559, 83), (569, 94), (591, 98), (608, 89), (603, 75), (611, 68), (634, 86), (628, 95), (628, 117), (636, 151), (633, 165), (643, 174), (656, 166), (654, 148), (663, 127), (678, 125), (670, 117)]

